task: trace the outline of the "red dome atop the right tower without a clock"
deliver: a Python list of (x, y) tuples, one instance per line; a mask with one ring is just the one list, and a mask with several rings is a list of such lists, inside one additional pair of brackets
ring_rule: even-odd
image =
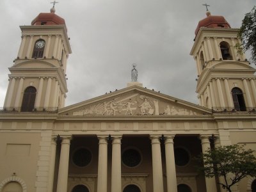
[(223, 16), (211, 15), (211, 13), (206, 13), (207, 17), (198, 22), (197, 28), (195, 30), (195, 35), (197, 35), (200, 28), (230, 28), (227, 20)]

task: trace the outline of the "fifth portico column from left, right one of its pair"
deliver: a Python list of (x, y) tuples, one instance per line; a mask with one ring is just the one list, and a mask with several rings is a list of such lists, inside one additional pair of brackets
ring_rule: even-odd
[(177, 178), (176, 178), (176, 168), (175, 168), (175, 159), (174, 159), (173, 138), (174, 136), (166, 136), (164, 140), (167, 192), (177, 192)]

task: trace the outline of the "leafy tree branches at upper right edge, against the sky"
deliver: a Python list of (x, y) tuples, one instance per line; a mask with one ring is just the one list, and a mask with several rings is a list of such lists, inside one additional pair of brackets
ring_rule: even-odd
[(252, 62), (256, 64), (256, 6), (245, 14), (237, 37), (241, 40), (241, 44), (236, 45), (237, 52), (251, 51)]

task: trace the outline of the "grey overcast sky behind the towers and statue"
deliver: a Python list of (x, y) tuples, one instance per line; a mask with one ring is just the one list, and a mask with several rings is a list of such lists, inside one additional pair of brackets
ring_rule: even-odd
[[(56, 14), (65, 19), (72, 54), (68, 59), (66, 106), (91, 99), (131, 81), (198, 104), (196, 65), (189, 55), (207, 3), (239, 28), (255, 0), (58, 0)], [(49, 0), (0, 0), (0, 106), (8, 86), (8, 67), (20, 46), (19, 26), (30, 25)]]

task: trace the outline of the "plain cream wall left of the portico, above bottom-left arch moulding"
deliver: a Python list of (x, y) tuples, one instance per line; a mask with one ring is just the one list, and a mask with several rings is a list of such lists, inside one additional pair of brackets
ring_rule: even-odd
[(1, 132), (0, 182), (15, 173), (28, 191), (35, 191), (39, 143), (40, 133)]

